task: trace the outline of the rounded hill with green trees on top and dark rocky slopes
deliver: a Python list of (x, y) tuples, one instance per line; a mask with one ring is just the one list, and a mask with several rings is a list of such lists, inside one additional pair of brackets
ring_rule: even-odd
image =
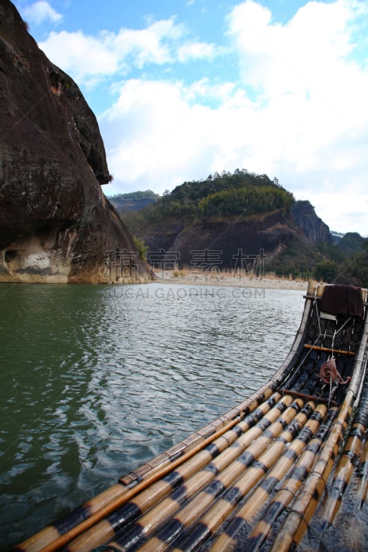
[(309, 201), (246, 169), (186, 181), (122, 216), (148, 249), (175, 251), (183, 266), (193, 264), (193, 250), (220, 251), (221, 268), (228, 269), (238, 250), (249, 258), (263, 250), (269, 272), (332, 282), (365, 243), (354, 234), (334, 243)]

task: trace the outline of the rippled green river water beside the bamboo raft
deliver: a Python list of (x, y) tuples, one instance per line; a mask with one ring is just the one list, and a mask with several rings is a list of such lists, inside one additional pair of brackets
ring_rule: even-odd
[(0, 542), (55, 521), (282, 364), (302, 291), (0, 285)]

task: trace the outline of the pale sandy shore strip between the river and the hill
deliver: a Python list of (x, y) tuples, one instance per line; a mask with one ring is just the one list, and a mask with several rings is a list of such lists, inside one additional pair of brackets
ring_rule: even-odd
[(249, 277), (229, 273), (181, 272), (166, 270), (156, 273), (156, 282), (197, 286), (229, 286), (238, 288), (296, 289), (307, 291), (308, 282), (277, 277)]

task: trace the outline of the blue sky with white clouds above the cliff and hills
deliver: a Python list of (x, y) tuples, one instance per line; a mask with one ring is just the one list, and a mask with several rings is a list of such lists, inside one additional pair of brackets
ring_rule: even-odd
[(15, 0), (99, 121), (106, 195), (278, 177), (368, 234), (366, 0)]

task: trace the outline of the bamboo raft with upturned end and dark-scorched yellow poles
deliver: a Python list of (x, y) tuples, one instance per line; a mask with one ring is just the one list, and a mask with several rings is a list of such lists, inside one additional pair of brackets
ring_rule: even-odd
[[(257, 393), (15, 550), (296, 550), (312, 521), (318, 531), (333, 524), (354, 470), (360, 507), (367, 290), (310, 282), (304, 298), (291, 351)], [(331, 355), (340, 382), (321, 380)]]

